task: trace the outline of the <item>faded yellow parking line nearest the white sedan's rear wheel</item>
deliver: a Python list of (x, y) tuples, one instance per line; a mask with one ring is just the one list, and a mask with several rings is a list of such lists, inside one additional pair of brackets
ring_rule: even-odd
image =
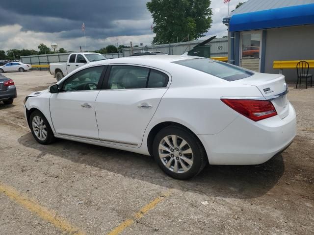
[[(163, 193), (161, 196), (155, 198), (149, 204), (144, 206), (140, 211), (136, 212), (135, 215), (134, 215), (134, 219), (142, 218), (148, 211), (154, 209), (159, 202), (163, 201), (166, 197), (170, 196), (170, 193), (171, 193), (170, 190), (168, 190), (165, 193)], [(127, 219), (127, 220), (123, 221), (117, 227), (112, 229), (108, 233), (108, 235), (118, 235), (118, 234), (120, 234), (122, 231), (124, 231), (126, 228), (128, 228), (129, 226), (131, 226), (131, 224), (134, 223), (134, 219)]]

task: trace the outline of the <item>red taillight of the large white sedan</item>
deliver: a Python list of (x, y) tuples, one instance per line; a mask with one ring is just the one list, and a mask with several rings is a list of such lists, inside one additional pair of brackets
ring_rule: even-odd
[(277, 115), (274, 105), (268, 100), (221, 99), (230, 108), (253, 121)]

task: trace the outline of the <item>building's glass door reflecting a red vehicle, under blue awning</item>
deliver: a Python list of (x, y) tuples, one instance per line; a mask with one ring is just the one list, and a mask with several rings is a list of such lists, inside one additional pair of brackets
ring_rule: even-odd
[(261, 38), (260, 32), (242, 33), (241, 67), (257, 72), (260, 71)]

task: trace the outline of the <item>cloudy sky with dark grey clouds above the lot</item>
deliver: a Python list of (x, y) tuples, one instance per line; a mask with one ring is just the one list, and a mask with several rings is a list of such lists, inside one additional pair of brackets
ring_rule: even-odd
[[(151, 45), (153, 19), (146, 8), (148, 0), (4, 0), (0, 4), (0, 49), (37, 49), (56, 42), (58, 47), (78, 51), (107, 45)], [(241, 0), (231, 0), (230, 9)], [(243, 0), (242, 0), (243, 1)], [(211, 0), (212, 26), (207, 36), (227, 35), (222, 18), (228, 4)]]

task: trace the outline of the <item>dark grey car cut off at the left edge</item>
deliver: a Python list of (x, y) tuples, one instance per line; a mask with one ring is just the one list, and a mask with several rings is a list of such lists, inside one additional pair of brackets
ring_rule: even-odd
[(0, 74), (0, 101), (4, 104), (12, 104), (16, 97), (18, 96), (14, 81)]

